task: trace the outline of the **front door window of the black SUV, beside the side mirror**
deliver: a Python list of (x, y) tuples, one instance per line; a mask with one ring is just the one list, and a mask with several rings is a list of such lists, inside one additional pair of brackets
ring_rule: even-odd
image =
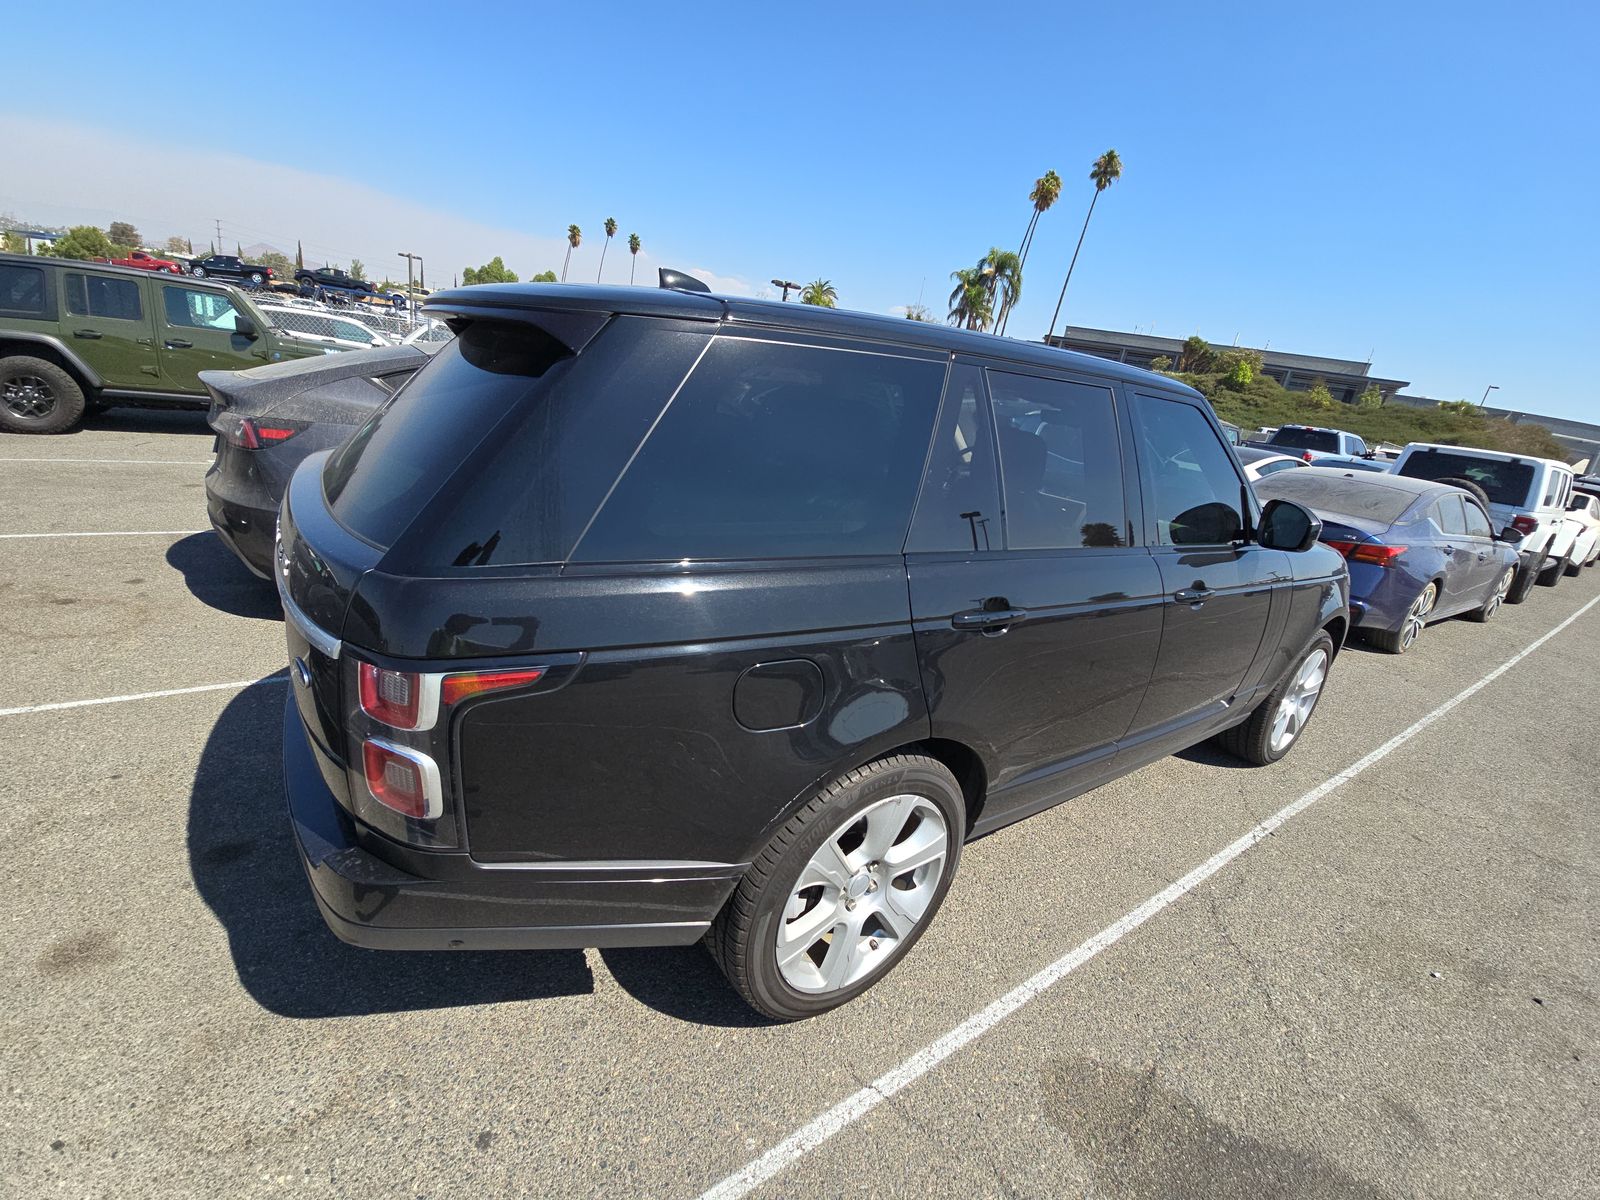
[[(1139, 461), (1149, 482), (1155, 534), (1163, 546), (1216, 546), (1235, 541), (1242, 485), (1211, 422), (1194, 405), (1138, 395), (1133, 400)], [(1291, 480), (1302, 472), (1285, 470)]]

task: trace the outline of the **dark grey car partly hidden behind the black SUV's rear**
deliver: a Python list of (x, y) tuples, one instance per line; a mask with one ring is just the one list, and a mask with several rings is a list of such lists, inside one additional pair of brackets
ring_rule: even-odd
[(202, 371), (211, 394), (216, 461), (205, 477), (206, 512), (227, 547), (262, 579), (290, 475), (309, 454), (344, 445), (437, 346), (386, 346), (326, 358)]

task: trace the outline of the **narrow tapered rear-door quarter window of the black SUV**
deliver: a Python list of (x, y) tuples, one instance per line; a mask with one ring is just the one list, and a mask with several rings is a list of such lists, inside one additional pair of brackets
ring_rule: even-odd
[(952, 366), (907, 550), (1000, 549), (1000, 482), (987, 408), (984, 373)]

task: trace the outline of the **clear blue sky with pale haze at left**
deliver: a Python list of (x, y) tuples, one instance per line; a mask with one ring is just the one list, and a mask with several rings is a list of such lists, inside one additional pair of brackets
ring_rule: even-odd
[[(1038, 338), (1094, 157), (1122, 182), (1075, 325), (1373, 358), (1411, 392), (1600, 421), (1600, 18), (1579, 5), (166, 5), (13, 58), (0, 210), (322, 246), (430, 283), (494, 253), (594, 278), (602, 224), (746, 291), (918, 296), (1040, 224)], [(80, 5), (85, 27), (126, 10)], [(139, 66), (162, 45), (170, 67)], [(182, 66), (237, 53), (250, 72)], [(72, 86), (61, 82), (70, 75)], [(307, 80), (322, 78), (322, 85)], [(405, 80), (414, 86), (405, 88)], [(398, 245), (406, 242), (408, 245)], [(403, 262), (398, 264), (403, 269)]]

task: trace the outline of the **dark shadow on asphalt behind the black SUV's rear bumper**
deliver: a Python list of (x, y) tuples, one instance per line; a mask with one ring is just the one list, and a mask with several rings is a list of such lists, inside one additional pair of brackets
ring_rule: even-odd
[(234, 968), (256, 1003), (278, 1016), (330, 1018), (594, 990), (581, 950), (395, 954), (358, 950), (328, 933), (283, 805), (285, 698), (283, 682), (269, 678), (227, 704), (189, 795), (195, 890), (227, 931)]

